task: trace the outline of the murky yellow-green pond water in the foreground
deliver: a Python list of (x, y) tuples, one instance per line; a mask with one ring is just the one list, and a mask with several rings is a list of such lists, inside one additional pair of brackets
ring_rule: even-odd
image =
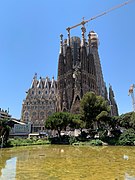
[(135, 180), (135, 147), (0, 149), (0, 180)]

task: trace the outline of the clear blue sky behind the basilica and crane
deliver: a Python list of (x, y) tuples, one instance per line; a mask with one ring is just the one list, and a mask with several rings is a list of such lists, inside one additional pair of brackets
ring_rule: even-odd
[[(82, 17), (89, 19), (124, 0), (1, 0), (0, 107), (20, 118), (25, 92), (35, 73), (57, 79), (59, 35)], [(81, 37), (81, 27), (71, 31)], [(135, 83), (135, 1), (86, 25), (100, 41), (107, 87), (112, 85), (119, 113), (132, 111), (128, 90)]]

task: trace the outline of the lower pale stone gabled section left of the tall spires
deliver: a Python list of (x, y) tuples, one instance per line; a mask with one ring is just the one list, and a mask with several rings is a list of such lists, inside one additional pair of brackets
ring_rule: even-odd
[(21, 120), (31, 123), (33, 132), (44, 130), (44, 120), (56, 111), (57, 82), (54, 77), (39, 80), (34, 75), (30, 89), (22, 104)]

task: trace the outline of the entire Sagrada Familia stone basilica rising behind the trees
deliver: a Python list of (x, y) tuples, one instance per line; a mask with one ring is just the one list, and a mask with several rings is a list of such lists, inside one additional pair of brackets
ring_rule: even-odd
[(99, 53), (98, 36), (94, 31), (85, 38), (69, 37), (63, 40), (60, 35), (57, 80), (46, 77), (37, 79), (34, 75), (32, 85), (22, 104), (21, 121), (33, 124), (33, 132), (44, 130), (45, 119), (54, 112), (78, 113), (83, 95), (92, 91), (104, 97), (111, 107), (111, 115), (118, 115), (112, 86), (109, 93), (104, 82)]

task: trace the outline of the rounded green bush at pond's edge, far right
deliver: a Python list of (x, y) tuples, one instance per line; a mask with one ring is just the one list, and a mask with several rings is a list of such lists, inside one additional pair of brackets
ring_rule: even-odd
[(118, 145), (135, 145), (135, 130), (134, 129), (127, 129), (125, 130), (118, 140)]

